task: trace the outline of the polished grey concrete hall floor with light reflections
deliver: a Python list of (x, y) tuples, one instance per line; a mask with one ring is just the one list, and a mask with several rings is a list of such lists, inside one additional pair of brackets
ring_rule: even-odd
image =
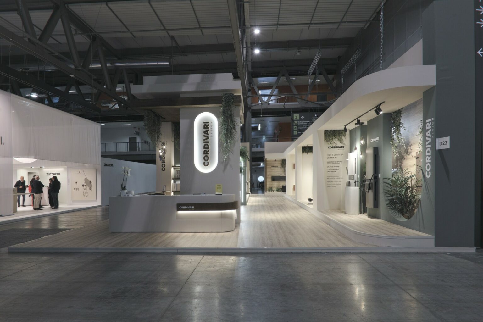
[[(106, 210), (0, 229), (75, 228), (105, 220)], [(0, 249), (2, 322), (481, 322), (482, 285), (481, 251), (213, 256)]]

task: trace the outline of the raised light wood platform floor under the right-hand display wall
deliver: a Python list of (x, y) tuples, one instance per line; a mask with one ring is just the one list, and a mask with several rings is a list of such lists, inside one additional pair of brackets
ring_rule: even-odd
[(363, 233), (387, 236), (431, 236), (410, 228), (386, 222), (382, 219), (369, 217), (367, 214), (348, 215), (341, 210), (324, 210), (321, 212), (329, 218), (332, 218), (355, 231)]

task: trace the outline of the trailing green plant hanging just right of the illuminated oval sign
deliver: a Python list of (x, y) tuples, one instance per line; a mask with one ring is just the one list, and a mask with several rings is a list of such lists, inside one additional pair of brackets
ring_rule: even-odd
[(220, 111), (220, 141), (221, 159), (224, 163), (228, 162), (237, 134), (237, 122), (233, 113), (235, 96), (232, 93), (223, 94), (222, 106)]

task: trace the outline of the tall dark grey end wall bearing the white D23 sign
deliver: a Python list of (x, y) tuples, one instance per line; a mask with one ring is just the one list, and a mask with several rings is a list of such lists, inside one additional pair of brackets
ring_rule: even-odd
[(424, 95), (423, 115), (434, 117), (432, 144), (451, 138), (450, 149), (425, 151), (434, 180), (435, 246), (475, 244), (475, 173), (480, 170), (475, 165), (481, 146), (477, 156), (473, 5), (473, 0), (435, 1), (423, 14), (423, 61), (436, 64), (436, 86)]

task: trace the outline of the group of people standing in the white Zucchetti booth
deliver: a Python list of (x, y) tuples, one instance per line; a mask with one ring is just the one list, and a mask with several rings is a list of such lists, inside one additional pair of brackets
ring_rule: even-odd
[[(25, 207), (25, 192), (28, 187), (28, 192), (30, 193), (29, 196), (32, 197), (32, 207), (33, 210), (42, 210), (43, 206), (41, 205), (42, 202), (42, 193), (43, 193), (43, 183), (39, 180), (40, 177), (38, 175), (33, 176), (32, 180), (28, 185), (25, 184), (24, 177), (21, 176), (20, 180), (15, 182), (14, 188), (17, 188), (17, 206), (20, 207), (20, 196), (23, 196), (22, 200), (22, 207)], [(60, 191), (60, 181), (57, 180), (57, 176), (53, 176), (49, 179), (49, 205), (52, 209), (59, 208), (59, 191)]]

